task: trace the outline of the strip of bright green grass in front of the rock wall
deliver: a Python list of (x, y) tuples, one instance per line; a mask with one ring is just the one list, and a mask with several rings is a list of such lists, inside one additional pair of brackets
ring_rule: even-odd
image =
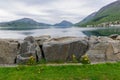
[(120, 80), (120, 63), (1, 67), (0, 80)]

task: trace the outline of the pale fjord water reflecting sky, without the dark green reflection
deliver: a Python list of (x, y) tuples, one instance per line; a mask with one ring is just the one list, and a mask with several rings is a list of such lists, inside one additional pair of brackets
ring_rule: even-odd
[(92, 30), (94, 28), (48, 28), (48, 29), (30, 29), (30, 28), (0, 28), (0, 38), (9, 39), (23, 39), (26, 36), (42, 36), (50, 35), (51, 37), (84, 37), (86, 36), (82, 31)]

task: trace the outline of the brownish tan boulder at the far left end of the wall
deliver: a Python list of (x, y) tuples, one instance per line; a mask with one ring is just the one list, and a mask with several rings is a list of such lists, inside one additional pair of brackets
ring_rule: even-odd
[(18, 51), (18, 42), (0, 40), (0, 64), (14, 64)]

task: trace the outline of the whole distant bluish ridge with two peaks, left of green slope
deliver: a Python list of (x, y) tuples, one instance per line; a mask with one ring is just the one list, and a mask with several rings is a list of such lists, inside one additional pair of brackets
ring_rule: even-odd
[(20, 27), (40, 27), (40, 28), (47, 28), (48, 26), (59, 26), (61, 28), (64, 27), (71, 27), (73, 24), (69, 21), (63, 20), (60, 23), (51, 25), (51, 24), (46, 24), (46, 23), (40, 23), (37, 22), (33, 19), (30, 18), (22, 18), (14, 21), (9, 21), (9, 22), (1, 22), (0, 23), (1, 27), (12, 27), (12, 28), (20, 28)]

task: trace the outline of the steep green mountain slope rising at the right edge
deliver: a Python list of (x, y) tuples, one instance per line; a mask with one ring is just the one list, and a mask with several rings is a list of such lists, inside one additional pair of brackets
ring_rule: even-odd
[(105, 22), (120, 21), (120, 0), (110, 3), (98, 12), (91, 14), (81, 22), (77, 23), (77, 26), (98, 25)]

